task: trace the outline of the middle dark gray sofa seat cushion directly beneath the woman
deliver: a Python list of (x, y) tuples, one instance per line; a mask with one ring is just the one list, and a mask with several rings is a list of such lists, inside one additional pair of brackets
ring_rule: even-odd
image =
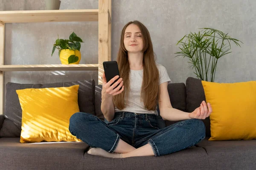
[[(99, 164), (100, 162), (100, 164)], [(189, 147), (163, 156), (105, 158), (84, 153), (84, 170), (207, 170), (207, 153), (201, 147)]]

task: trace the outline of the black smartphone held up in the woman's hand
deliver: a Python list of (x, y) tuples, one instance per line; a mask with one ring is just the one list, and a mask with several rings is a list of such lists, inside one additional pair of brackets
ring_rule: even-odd
[[(109, 82), (113, 77), (115, 77), (117, 75), (119, 76), (118, 79), (116, 79), (111, 85), (113, 85), (115, 82), (117, 82), (120, 79), (119, 69), (118, 69), (118, 65), (117, 65), (116, 61), (103, 62), (103, 68), (105, 71), (105, 77), (106, 77), (107, 82)], [(119, 86), (119, 84), (117, 86)], [(115, 88), (113, 88), (113, 89), (115, 89)], [(119, 90), (121, 90), (121, 89), (122, 89), (122, 87)]]

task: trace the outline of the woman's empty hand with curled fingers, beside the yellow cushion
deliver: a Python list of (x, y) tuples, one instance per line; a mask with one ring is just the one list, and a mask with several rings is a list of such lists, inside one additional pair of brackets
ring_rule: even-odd
[[(208, 109), (207, 109), (208, 105)], [(200, 105), (200, 107), (196, 108), (195, 111), (189, 113), (190, 119), (205, 119), (212, 113), (212, 106), (208, 102), (206, 104), (205, 101), (203, 101)]]

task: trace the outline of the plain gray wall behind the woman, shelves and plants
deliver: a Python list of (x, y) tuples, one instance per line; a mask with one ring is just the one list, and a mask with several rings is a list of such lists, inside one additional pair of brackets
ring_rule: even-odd
[[(60, 9), (95, 9), (96, 0), (62, 0)], [(244, 44), (232, 43), (232, 53), (219, 59), (215, 82), (256, 80), (256, 1), (254, 0), (112, 0), (112, 60), (116, 60), (120, 33), (131, 20), (149, 30), (157, 62), (166, 67), (172, 82), (195, 77), (187, 58), (175, 57), (177, 41), (198, 28), (212, 27), (229, 33)], [(44, 10), (44, 0), (0, 0), (0, 10)], [(74, 31), (84, 40), (81, 64), (98, 62), (98, 23), (13, 23), (6, 24), (5, 64), (60, 64), (58, 53), (51, 57), (57, 39)], [(49, 83), (95, 79), (97, 71), (5, 72), (5, 84)]]

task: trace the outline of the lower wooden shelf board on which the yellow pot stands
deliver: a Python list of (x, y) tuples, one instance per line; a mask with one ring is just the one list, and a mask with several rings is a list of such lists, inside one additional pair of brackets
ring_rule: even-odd
[(0, 65), (0, 71), (93, 71), (98, 64)]

